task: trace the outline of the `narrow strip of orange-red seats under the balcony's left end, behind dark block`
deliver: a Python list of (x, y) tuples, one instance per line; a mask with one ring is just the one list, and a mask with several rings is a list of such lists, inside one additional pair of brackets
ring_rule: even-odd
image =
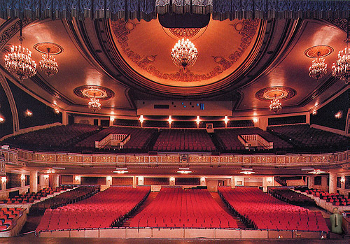
[(65, 191), (66, 189), (71, 189), (71, 188), (72, 186), (56, 187), (55, 189), (52, 189), (50, 187), (43, 188), (38, 192), (30, 192), (30, 193), (27, 192), (25, 194), (9, 197), (8, 199), (0, 201), (0, 203), (6, 203), (6, 204), (34, 203), (35, 200), (39, 200), (41, 199), (41, 197), (46, 197), (48, 195), (54, 194), (55, 192), (62, 192), (62, 191)]

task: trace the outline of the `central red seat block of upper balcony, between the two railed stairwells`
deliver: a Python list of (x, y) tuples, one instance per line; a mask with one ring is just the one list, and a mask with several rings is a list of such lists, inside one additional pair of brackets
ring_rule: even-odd
[(216, 148), (205, 129), (162, 129), (153, 151), (211, 152), (216, 151)]

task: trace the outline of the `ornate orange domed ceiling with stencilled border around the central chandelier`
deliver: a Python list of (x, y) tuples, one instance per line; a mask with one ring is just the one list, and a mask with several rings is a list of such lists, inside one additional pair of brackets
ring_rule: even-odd
[[(167, 29), (158, 20), (113, 21), (111, 30), (118, 55), (130, 69), (160, 85), (199, 87), (232, 82), (253, 61), (260, 20), (211, 20), (198, 29)], [(197, 62), (186, 71), (172, 62), (171, 50), (188, 38), (198, 51)], [(223, 80), (230, 77), (230, 80)]]

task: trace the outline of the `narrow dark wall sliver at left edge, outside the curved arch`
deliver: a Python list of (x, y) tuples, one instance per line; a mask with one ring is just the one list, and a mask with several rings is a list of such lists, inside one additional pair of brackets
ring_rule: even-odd
[(10, 103), (8, 103), (7, 96), (3, 90), (2, 85), (0, 85), (0, 116), (4, 117), (5, 121), (0, 123), (0, 138), (8, 134), (13, 133), (13, 120), (10, 108)]

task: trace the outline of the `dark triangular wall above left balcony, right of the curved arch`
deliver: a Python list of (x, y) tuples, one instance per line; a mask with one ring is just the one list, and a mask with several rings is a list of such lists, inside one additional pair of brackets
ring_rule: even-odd
[[(62, 123), (62, 113), (57, 115), (52, 108), (46, 106), (41, 101), (34, 99), (33, 96), (27, 94), (9, 80), (8, 85), (10, 86), (17, 106), (20, 129), (34, 127), (37, 125), (52, 124), (55, 122)], [(27, 109), (31, 110), (33, 113), (31, 117), (25, 116), (25, 110)]]

